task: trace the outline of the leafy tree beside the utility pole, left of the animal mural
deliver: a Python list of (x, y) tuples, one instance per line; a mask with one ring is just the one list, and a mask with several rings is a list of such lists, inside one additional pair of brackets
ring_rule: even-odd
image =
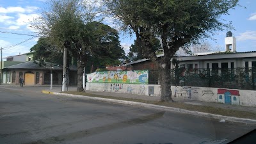
[(86, 61), (92, 56), (100, 57), (102, 51), (113, 50), (107, 45), (113, 44), (111, 38), (116, 35), (113, 35), (113, 29), (94, 21), (96, 14), (96, 9), (88, 1), (52, 0), (49, 2), (49, 10), (42, 12), (42, 17), (35, 19), (32, 24), (39, 29), (40, 35), (49, 38), (54, 47), (67, 48), (70, 56), (77, 58), (78, 92), (83, 91), (83, 68)]

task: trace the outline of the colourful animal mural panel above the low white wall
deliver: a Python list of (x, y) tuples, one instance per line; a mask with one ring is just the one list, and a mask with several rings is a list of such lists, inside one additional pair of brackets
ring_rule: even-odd
[(93, 72), (87, 82), (148, 84), (148, 70)]

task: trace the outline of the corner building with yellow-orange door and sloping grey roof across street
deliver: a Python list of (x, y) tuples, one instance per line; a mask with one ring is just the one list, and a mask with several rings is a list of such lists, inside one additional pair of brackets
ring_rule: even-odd
[[(46, 66), (40, 66), (35, 61), (28, 61), (17, 65), (3, 68), (3, 84), (19, 84), (19, 77), (24, 79), (24, 85), (44, 85), (51, 83), (62, 84), (62, 70), (60, 65), (52, 66), (53, 63), (46, 63)], [(67, 84), (77, 84), (77, 68), (72, 66), (67, 73)]]

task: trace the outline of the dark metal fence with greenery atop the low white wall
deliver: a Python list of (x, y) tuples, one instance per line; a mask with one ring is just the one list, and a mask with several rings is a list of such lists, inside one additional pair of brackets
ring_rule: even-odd
[[(157, 70), (150, 70), (149, 84), (159, 84), (158, 77)], [(174, 68), (171, 70), (170, 77), (174, 86), (256, 90), (256, 68)]]

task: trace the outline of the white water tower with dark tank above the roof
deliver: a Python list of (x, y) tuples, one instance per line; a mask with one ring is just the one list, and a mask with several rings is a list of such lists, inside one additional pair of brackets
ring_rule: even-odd
[(226, 51), (236, 52), (236, 38), (231, 31), (228, 31), (227, 36), (225, 37), (225, 47)]

